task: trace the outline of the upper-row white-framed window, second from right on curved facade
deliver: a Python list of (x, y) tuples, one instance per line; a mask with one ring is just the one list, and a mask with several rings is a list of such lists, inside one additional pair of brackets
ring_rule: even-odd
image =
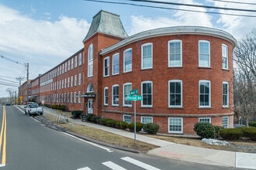
[(199, 41), (199, 66), (210, 67), (210, 45), (209, 41)]

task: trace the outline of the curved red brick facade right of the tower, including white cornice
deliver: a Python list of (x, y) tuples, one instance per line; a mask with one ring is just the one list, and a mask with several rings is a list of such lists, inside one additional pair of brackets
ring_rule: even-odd
[[(177, 31), (178, 29), (178, 31)], [(175, 40), (175, 41), (174, 41)], [(169, 66), (169, 42), (180, 42), (182, 54), (181, 65)], [(209, 44), (209, 66), (199, 66), (199, 42)], [(142, 68), (142, 46), (150, 44), (152, 49), (152, 66)], [(202, 46), (202, 45), (200, 45)], [(223, 46), (227, 46), (227, 66), (223, 68)], [(124, 84), (130, 83), (132, 89), (138, 89), (144, 100), (143, 82), (150, 82), (151, 104), (144, 106), (144, 101), (137, 102), (137, 121), (151, 120), (160, 124), (160, 132), (194, 134), (193, 126), (199, 121), (209, 121), (214, 125), (233, 127), (233, 59), (232, 52), (235, 39), (216, 29), (201, 27), (178, 27), (155, 29), (140, 33), (131, 39), (125, 39), (109, 49), (102, 51), (103, 61), (109, 58), (109, 75), (102, 79), (102, 91), (108, 88), (108, 104), (102, 107), (104, 117), (123, 120), (123, 114), (131, 115), (133, 121), (133, 104), (124, 106)], [(132, 49), (132, 70), (123, 73), (124, 51)], [(112, 75), (112, 57), (119, 53), (119, 74)], [(104, 62), (103, 62), (104, 65)], [(103, 66), (104, 68), (104, 66)], [(103, 72), (104, 74), (104, 72)], [(103, 75), (104, 76), (104, 75)], [(179, 97), (182, 98), (178, 106), (170, 106), (170, 83), (181, 82)], [(209, 82), (210, 104), (199, 106), (199, 81)], [(223, 84), (227, 84), (228, 91), (223, 94)], [(112, 86), (119, 85), (118, 105), (112, 105)], [(227, 95), (226, 95), (227, 94)], [(223, 95), (228, 96), (223, 101)], [(103, 95), (104, 96), (104, 95)], [(147, 96), (147, 94), (145, 94)], [(228, 102), (228, 104), (223, 104)], [(104, 97), (102, 98), (104, 103)], [(207, 103), (207, 102), (206, 102)], [(147, 104), (146, 104), (147, 105)], [(224, 118), (223, 118), (224, 117)], [(171, 128), (170, 128), (171, 127)]]

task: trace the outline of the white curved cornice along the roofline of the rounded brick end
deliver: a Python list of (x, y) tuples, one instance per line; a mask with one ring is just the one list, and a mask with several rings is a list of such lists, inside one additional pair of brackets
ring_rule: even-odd
[(236, 46), (237, 40), (228, 32), (224, 32), (220, 29), (213, 29), (209, 27), (201, 26), (175, 26), (175, 27), (165, 27), (161, 29), (152, 29), (144, 32), (137, 33), (133, 36), (129, 36), (116, 44), (109, 46), (106, 49), (102, 49), (100, 55), (105, 55), (123, 46), (127, 46), (132, 42), (137, 42), (142, 39), (149, 39), (157, 36), (174, 36), (174, 35), (202, 35), (202, 36), (215, 36), (220, 39), (225, 39), (232, 44), (233, 47)]

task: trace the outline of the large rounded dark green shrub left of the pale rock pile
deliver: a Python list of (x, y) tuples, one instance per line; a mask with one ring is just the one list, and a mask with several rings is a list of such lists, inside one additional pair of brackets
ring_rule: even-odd
[(202, 138), (214, 138), (215, 129), (213, 124), (199, 122), (194, 125), (194, 131), (199, 137)]

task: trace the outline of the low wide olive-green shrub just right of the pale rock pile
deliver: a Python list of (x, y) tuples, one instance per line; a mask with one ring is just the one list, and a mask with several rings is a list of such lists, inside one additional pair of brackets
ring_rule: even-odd
[(243, 136), (241, 128), (220, 129), (219, 134), (223, 139), (229, 140), (237, 140)]

